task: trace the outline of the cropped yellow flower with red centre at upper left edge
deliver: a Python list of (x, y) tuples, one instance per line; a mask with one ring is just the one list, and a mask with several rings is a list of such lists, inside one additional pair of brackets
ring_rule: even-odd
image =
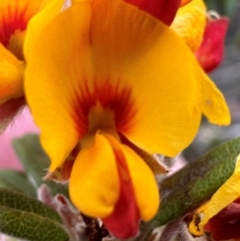
[[(41, 27), (60, 12), (63, 2), (57, 2), (55, 12), (46, 16)], [(51, 0), (0, 1), (0, 132), (25, 105), (23, 44), (28, 22), (51, 4)]]

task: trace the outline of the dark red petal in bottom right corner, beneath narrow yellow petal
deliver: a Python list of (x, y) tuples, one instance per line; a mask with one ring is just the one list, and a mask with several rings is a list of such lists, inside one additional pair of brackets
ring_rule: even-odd
[(216, 241), (240, 238), (240, 203), (231, 203), (204, 226)]

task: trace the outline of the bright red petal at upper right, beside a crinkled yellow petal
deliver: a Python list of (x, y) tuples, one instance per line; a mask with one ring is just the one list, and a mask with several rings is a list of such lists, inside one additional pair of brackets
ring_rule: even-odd
[(228, 23), (226, 18), (207, 23), (201, 46), (195, 52), (198, 62), (206, 72), (215, 69), (222, 61)]

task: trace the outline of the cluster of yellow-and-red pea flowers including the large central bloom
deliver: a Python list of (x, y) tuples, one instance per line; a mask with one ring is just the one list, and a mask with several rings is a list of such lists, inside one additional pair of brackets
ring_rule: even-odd
[(223, 49), (206, 59), (204, 39), (224, 31), (212, 35), (201, 0), (11, 0), (0, 12), (0, 111), (26, 98), (46, 178), (69, 181), (74, 205), (114, 236), (136, 236), (161, 205), (152, 154), (186, 148), (202, 115), (230, 122), (204, 72)]

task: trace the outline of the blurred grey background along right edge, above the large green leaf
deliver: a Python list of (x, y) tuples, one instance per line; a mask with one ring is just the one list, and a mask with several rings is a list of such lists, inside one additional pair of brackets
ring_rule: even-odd
[(230, 19), (221, 65), (210, 73), (223, 92), (232, 115), (232, 124), (218, 127), (203, 119), (201, 129), (183, 156), (187, 161), (198, 158), (211, 147), (240, 136), (240, 0), (205, 0), (208, 10)]

